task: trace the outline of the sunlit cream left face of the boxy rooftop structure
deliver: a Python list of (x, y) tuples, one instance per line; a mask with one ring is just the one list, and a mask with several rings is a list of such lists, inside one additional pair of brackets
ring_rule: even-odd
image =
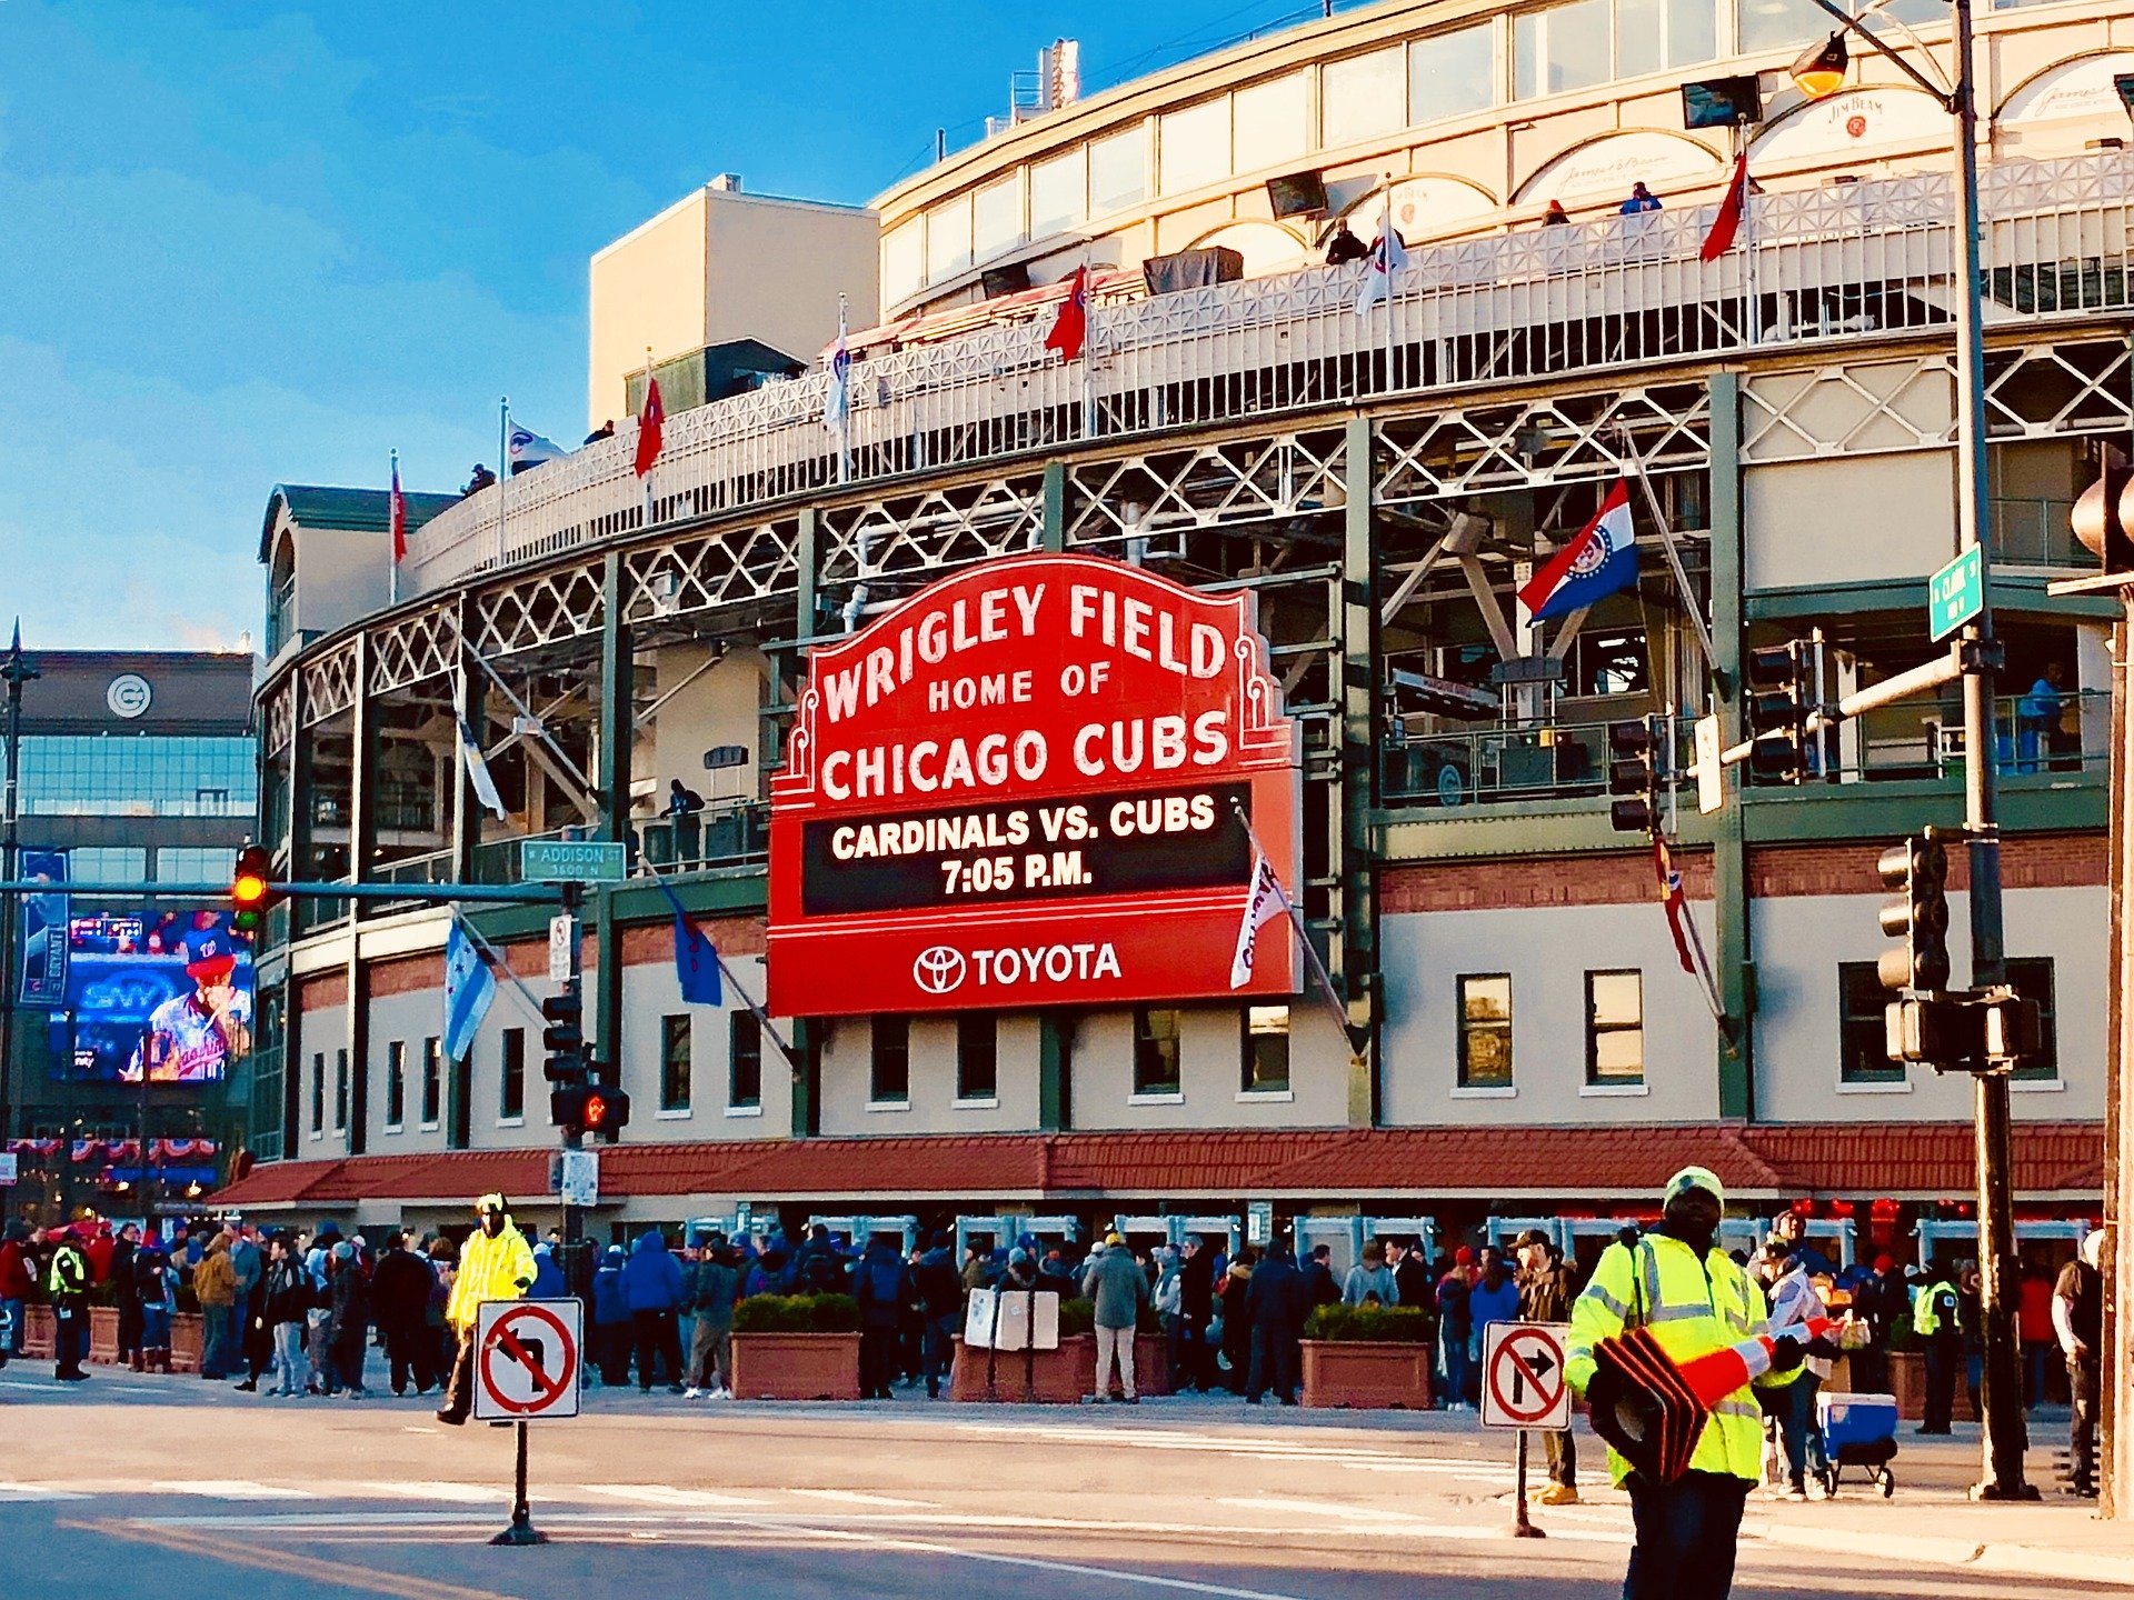
[(587, 429), (627, 414), (625, 382), (655, 361), (704, 343), (704, 215), (708, 190), (670, 205), (593, 256)]

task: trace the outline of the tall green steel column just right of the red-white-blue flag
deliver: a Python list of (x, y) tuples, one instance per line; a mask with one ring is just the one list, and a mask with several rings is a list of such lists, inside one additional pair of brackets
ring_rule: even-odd
[[(1720, 738), (1741, 738), (1741, 375), (1711, 375), (1711, 666), (1718, 672), (1714, 710)], [(1726, 1005), (1731, 1039), (1720, 1039), (1720, 1116), (1756, 1116), (1756, 1005), (1750, 947), (1748, 845), (1741, 828), (1741, 783), (1746, 768), (1726, 777), (1733, 796), (1711, 834), (1711, 915), (1718, 924), (1718, 983)]]

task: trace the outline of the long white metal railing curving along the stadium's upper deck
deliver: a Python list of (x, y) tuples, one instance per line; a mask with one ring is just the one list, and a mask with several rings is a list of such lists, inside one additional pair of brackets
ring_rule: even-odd
[[(1724, 356), (1946, 324), (1950, 179), (1936, 173), (1756, 196), (1741, 247), (1697, 252), (1714, 207), (1532, 228), (1411, 252), (1394, 303), (1355, 314), (1361, 267), (1093, 307), (1086, 358), (1044, 320), (854, 367), (851, 478), (997, 461), (1376, 395)], [(2128, 305), (2134, 158), (2002, 162), (1982, 175), (1987, 318)], [(837, 482), (822, 371), (681, 412), (651, 495), (636, 429), (444, 510), (410, 540), (412, 593), (647, 525)], [(501, 512), (499, 512), (501, 506)]]

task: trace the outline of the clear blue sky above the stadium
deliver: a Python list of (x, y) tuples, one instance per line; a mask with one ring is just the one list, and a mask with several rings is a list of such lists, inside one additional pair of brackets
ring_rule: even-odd
[(574, 439), (587, 258), (713, 173), (866, 201), (1050, 38), (1297, 4), (0, 0), (0, 625), (230, 646), (275, 482), (457, 489), (497, 395)]

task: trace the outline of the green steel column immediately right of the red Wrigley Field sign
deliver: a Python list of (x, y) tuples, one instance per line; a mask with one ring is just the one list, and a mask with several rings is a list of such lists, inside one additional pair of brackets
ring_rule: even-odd
[(1329, 621), (1340, 629), (1329, 663), (1332, 700), (1340, 706), (1340, 887), (1329, 913), (1340, 917), (1342, 937), (1334, 951), (1334, 973), (1349, 1001), (1349, 1030), (1364, 1047), (1349, 1058), (1349, 1124), (1374, 1126), (1383, 1105), (1379, 1069), (1379, 919), (1370, 860), (1370, 806), (1374, 789), (1379, 599), (1372, 572), (1372, 425), (1349, 418), (1347, 516), (1342, 521), (1340, 604)]

